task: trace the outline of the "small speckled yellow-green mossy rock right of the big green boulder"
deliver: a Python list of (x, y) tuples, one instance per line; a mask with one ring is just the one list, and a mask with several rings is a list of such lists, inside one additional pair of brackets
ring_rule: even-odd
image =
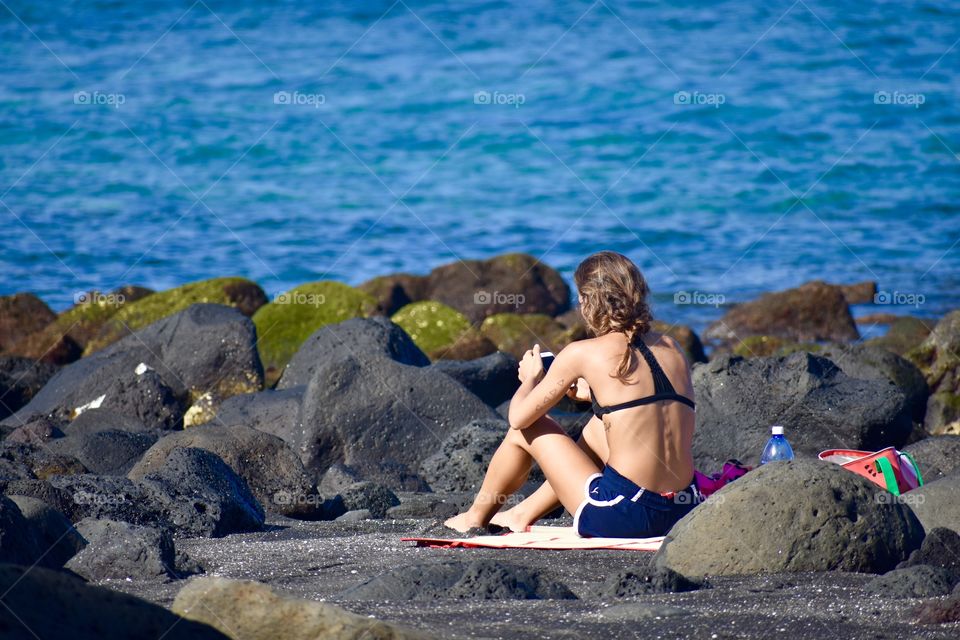
[(465, 315), (442, 302), (412, 302), (391, 317), (431, 360), (472, 360), (497, 350)]

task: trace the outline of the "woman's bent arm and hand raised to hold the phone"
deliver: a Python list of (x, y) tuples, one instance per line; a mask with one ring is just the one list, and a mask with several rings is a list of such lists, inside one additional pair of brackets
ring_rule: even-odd
[[(575, 343), (574, 343), (575, 344)], [(557, 354), (544, 375), (540, 345), (534, 345), (520, 361), (520, 388), (510, 401), (511, 429), (526, 429), (547, 413), (580, 377), (578, 349), (567, 345)], [(541, 379), (542, 378), (542, 379)]]

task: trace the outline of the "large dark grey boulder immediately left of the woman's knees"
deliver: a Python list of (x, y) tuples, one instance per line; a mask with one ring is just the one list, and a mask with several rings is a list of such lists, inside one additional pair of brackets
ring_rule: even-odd
[(415, 471), (439, 441), (471, 420), (494, 417), (444, 373), (351, 355), (317, 367), (304, 392), (300, 426), (277, 435), (310, 470), (341, 462), (368, 480), (416, 489)]

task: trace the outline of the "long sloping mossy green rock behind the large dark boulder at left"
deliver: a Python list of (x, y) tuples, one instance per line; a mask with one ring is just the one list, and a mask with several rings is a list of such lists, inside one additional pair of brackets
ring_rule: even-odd
[(157, 320), (179, 313), (193, 304), (224, 304), (236, 307), (249, 316), (266, 301), (267, 296), (263, 289), (246, 278), (213, 278), (158, 291), (136, 302), (124, 304), (103, 324), (96, 338), (87, 343), (83, 355), (99, 351), (120, 338)]

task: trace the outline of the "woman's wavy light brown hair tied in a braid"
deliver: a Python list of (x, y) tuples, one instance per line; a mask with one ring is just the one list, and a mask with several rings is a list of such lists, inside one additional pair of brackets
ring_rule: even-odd
[(573, 280), (587, 328), (597, 336), (614, 332), (627, 335), (627, 348), (612, 376), (625, 380), (638, 364), (633, 347), (653, 322), (646, 279), (630, 258), (615, 251), (601, 251), (580, 263)]

